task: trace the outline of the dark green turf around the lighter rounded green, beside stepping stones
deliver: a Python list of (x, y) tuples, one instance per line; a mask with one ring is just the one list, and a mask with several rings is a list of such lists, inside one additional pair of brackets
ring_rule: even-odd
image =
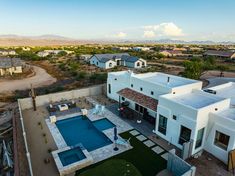
[[(119, 155), (113, 156), (105, 161), (111, 159), (122, 159), (127, 162), (130, 162), (139, 170), (142, 176), (155, 176), (161, 170), (166, 169), (167, 161), (161, 158), (160, 155), (157, 155), (155, 152), (153, 152), (151, 148), (145, 146), (143, 142), (140, 142), (138, 139), (136, 139), (136, 137), (132, 136), (129, 132), (122, 133), (120, 134), (120, 136), (123, 137), (124, 139), (129, 139), (131, 137), (130, 143), (133, 146), (133, 149), (128, 150)], [(101, 165), (102, 163), (104, 163), (104, 161), (88, 166), (84, 169), (81, 169), (77, 171), (77, 175), (80, 176), (82, 172), (94, 168), (98, 165)], [(86, 176), (96, 176), (96, 175), (86, 175)]]

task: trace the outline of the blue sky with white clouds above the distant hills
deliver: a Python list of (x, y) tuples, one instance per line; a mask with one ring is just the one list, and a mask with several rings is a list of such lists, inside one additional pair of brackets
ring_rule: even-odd
[(235, 41), (235, 0), (0, 0), (0, 35)]

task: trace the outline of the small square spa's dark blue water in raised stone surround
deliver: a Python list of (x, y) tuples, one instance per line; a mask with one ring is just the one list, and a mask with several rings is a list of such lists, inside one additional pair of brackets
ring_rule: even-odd
[(67, 166), (86, 158), (79, 147), (58, 153), (58, 155), (63, 166)]

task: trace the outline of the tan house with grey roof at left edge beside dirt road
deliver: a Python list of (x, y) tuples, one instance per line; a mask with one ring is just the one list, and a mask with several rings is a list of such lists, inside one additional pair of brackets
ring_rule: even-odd
[(0, 58), (0, 76), (23, 72), (23, 63), (19, 58)]

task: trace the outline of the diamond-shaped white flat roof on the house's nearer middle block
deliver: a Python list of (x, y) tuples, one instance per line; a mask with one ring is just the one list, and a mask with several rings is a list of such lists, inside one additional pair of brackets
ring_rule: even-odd
[(224, 100), (225, 98), (217, 97), (215, 95), (203, 92), (203, 91), (192, 91), (190, 93), (176, 95), (175, 97), (168, 98), (177, 103), (191, 106), (195, 109), (200, 109), (211, 104), (217, 103), (219, 101)]

